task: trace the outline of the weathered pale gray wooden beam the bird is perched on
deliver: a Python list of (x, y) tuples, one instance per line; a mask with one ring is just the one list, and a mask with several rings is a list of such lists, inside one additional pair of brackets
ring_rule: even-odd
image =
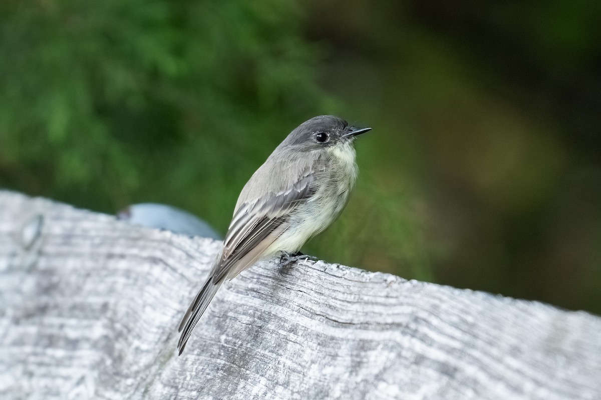
[(0, 398), (601, 398), (599, 317), (323, 261), (227, 282), (177, 357), (218, 246), (0, 191)]

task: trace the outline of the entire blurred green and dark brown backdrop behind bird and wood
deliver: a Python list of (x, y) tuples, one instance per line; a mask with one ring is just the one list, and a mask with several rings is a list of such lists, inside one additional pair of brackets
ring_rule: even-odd
[(601, 314), (601, 2), (4, 0), (0, 187), (224, 233), (296, 125), (373, 133), (305, 252)]

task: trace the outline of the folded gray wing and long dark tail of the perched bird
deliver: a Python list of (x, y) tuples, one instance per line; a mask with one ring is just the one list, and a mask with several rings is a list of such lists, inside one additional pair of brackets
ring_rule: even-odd
[(209, 278), (180, 323), (178, 331), (182, 333), (177, 345), (180, 354), (224, 279), (231, 279), (254, 264), (279, 234), (288, 228), (288, 214), (316, 193), (314, 180), (313, 170), (308, 170), (288, 190), (269, 193), (238, 207)]

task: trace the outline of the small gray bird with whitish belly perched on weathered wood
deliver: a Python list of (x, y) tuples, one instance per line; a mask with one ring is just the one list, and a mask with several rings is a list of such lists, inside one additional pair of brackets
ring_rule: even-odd
[(340, 215), (357, 177), (355, 137), (371, 128), (349, 127), (322, 115), (303, 122), (259, 167), (238, 197), (209, 278), (180, 323), (180, 353), (225, 279), (258, 260), (299, 251)]

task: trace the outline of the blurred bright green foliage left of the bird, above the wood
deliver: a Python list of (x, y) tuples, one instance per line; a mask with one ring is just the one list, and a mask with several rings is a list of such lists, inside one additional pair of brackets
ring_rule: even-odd
[(102, 210), (230, 199), (323, 106), (299, 14), (272, 0), (4, 2), (0, 184)]

